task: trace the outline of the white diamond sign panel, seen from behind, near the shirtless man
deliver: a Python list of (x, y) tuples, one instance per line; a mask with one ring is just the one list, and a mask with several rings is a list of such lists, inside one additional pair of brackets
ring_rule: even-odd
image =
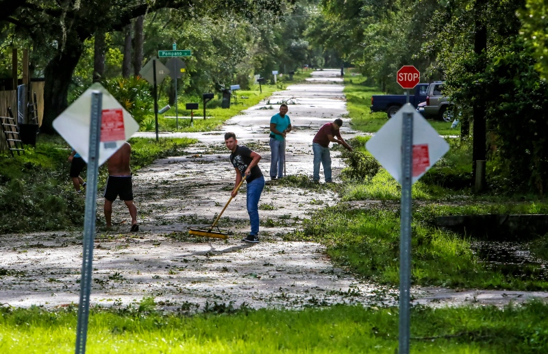
[(55, 118), (53, 128), (82, 156), (85, 162), (88, 162), (91, 94), (96, 90), (103, 93), (101, 143), (99, 144), (99, 166), (101, 166), (139, 130), (139, 124), (131, 114), (101, 84), (92, 84), (69, 108)]

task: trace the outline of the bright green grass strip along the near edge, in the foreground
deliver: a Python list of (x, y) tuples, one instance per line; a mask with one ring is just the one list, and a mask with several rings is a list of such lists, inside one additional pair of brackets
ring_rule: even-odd
[[(222, 307), (226, 309), (225, 307)], [(414, 307), (413, 353), (546, 353), (548, 307)], [(76, 312), (1, 309), (1, 353), (73, 353)], [(89, 353), (389, 353), (398, 310), (336, 305), (196, 316), (92, 309)]]

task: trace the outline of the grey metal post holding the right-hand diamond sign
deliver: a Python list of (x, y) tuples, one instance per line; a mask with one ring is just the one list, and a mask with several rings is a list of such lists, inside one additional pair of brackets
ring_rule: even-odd
[[(408, 90), (409, 99), (409, 90)], [(413, 114), (403, 113), (401, 136), (401, 211), (399, 241), (399, 354), (409, 353), (411, 287), (411, 188), (413, 160)]]

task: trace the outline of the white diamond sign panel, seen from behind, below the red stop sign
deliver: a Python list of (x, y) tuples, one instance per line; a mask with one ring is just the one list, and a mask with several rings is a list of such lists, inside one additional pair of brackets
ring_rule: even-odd
[(401, 184), (401, 135), (403, 113), (413, 114), (413, 173), (412, 183), (421, 178), (430, 167), (449, 151), (449, 144), (432, 125), (409, 103), (382, 126), (366, 142), (366, 149)]

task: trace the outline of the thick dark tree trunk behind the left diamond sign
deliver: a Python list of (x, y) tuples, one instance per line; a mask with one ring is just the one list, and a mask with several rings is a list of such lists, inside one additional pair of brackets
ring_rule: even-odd
[[(60, 49), (58, 49), (60, 50)], [(66, 97), (84, 45), (74, 36), (67, 36), (64, 51), (55, 54), (47, 64), (44, 77), (44, 118), (40, 131), (45, 134), (55, 134), (52, 123), (67, 107)]]

